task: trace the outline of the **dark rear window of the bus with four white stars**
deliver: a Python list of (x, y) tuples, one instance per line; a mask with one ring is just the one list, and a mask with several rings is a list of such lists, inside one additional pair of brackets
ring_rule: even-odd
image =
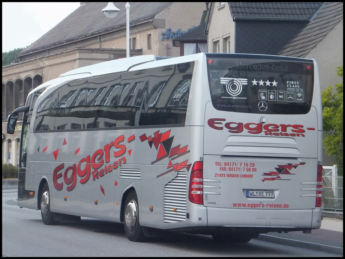
[(217, 110), (259, 114), (306, 114), (310, 110), (314, 84), (311, 60), (213, 54), (207, 57), (207, 71)]

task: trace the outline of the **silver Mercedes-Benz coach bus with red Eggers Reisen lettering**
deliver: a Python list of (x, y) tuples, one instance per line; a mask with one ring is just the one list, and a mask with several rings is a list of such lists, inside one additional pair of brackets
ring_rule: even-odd
[(136, 56), (33, 89), (23, 112), (18, 205), (43, 223), (124, 222), (248, 242), (321, 226), (317, 64), (272, 55)]

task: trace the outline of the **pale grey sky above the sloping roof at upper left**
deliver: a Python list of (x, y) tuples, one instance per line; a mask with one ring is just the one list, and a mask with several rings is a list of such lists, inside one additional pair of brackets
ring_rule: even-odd
[(2, 2), (2, 52), (30, 45), (79, 5), (80, 2)]

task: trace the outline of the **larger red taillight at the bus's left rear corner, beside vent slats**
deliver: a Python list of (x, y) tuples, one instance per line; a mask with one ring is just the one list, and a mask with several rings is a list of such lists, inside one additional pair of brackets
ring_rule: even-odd
[(189, 180), (189, 201), (195, 204), (204, 204), (203, 197), (203, 162), (197, 161), (194, 163)]

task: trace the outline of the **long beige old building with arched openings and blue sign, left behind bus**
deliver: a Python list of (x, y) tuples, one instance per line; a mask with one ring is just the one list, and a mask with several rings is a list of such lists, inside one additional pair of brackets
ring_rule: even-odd
[[(106, 2), (80, 6), (2, 67), (2, 162), (18, 164), (20, 131), (6, 133), (6, 118), (23, 106), (29, 91), (69, 70), (126, 57), (126, 2), (109, 19)], [(204, 2), (129, 2), (130, 56), (179, 56), (172, 40), (200, 24)]]

